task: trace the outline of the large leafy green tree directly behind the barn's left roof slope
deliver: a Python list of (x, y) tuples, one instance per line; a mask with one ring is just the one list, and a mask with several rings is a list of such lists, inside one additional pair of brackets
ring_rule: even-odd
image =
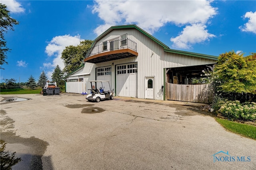
[(82, 64), (92, 42), (92, 40), (84, 40), (78, 46), (67, 46), (63, 50), (61, 58), (64, 60), (64, 73), (69, 74)]

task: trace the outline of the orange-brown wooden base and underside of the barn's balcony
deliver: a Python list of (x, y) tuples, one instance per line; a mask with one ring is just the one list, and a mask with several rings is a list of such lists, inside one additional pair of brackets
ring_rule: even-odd
[(108, 62), (108, 61), (130, 58), (135, 56), (138, 56), (138, 52), (133, 51), (129, 48), (126, 48), (126, 49), (113, 50), (113, 51), (96, 54), (96, 55), (85, 58), (84, 62), (90, 62), (90, 63), (96, 64), (96, 63)]

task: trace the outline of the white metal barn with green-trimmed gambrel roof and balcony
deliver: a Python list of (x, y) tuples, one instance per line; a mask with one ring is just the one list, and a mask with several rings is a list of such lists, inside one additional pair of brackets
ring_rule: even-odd
[(165, 82), (188, 84), (216, 61), (172, 50), (136, 25), (112, 26), (94, 40), (84, 64), (65, 77), (66, 92), (88, 93), (88, 81), (109, 80), (114, 96), (165, 100), (158, 95)]

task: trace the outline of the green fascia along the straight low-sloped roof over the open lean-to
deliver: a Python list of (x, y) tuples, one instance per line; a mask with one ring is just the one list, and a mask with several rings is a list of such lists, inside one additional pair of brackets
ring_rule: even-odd
[(182, 54), (186, 56), (193, 56), (193, 57), (198, 57), (198, 58), (206, 58), (209, 60), (218, 60), (218, 56), (211, 56), (211, 55), (206, 55), (206, 54), (199, 54), (199, 53), (194, 53), (194, 52), (187, 52), (187, 51), (180, 51), (180, 50), (173, 50), (170, 48), (164, 48), (165, 52), (170, 52), (170, 53), (175, 53), (175, 54)]

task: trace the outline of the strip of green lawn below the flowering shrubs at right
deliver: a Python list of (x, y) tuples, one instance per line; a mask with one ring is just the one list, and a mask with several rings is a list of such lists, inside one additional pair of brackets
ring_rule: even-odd
[(242, 136), (246, 136), (248, 138), (252, 138), (256, 140), (256, 126), (252, 126), (249, 124), (242, 124), (238, 122), (233, 122), (226, 119), (216, 118), (216, 121), (220, 123), (224, 128), (234, 132), (236, 134), (241, 134)]

